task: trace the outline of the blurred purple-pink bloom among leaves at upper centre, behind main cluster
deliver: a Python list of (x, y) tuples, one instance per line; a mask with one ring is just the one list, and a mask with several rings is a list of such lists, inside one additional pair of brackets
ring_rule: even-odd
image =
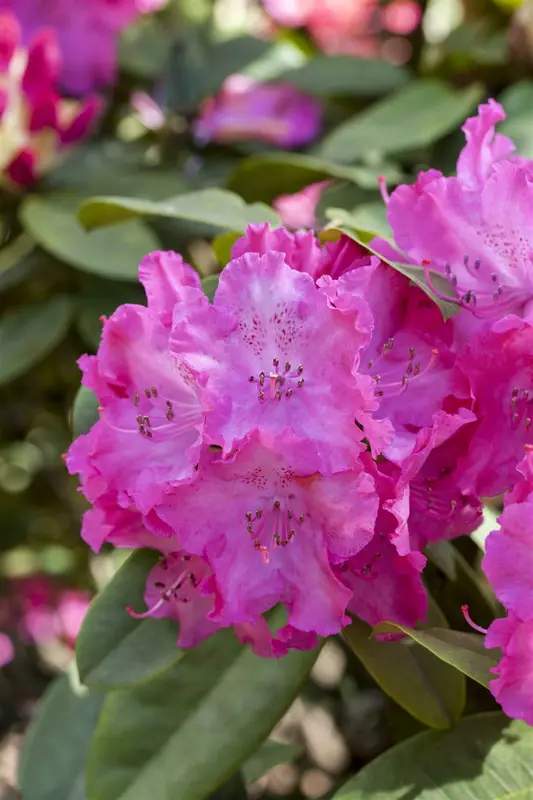
[(201, 106), (194, 134), (201, 143), (253, 139), (302, 147), (318, 136), (321, 116), (320, 103), (290, 84), (260, 84), (233, 75)]

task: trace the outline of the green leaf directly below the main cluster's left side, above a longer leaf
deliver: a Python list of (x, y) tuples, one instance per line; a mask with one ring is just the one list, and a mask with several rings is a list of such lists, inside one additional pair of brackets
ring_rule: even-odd
[(76, 642), (80, 679), (86, 686), (136, 686), (182, 658), (173, 620), (134, 619), (126, 610), (145, 609), (146, 576), (159, 555), (136, 550), (91, 603)]

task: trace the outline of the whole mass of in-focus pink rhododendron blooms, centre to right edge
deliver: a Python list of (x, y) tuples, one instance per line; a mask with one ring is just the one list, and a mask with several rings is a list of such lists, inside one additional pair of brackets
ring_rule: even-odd
[[(425, 547), (475, 530), (480, 497), (512, 489), (533, 444), (532, 173), (495, 134), (502, 118), (490, 101), (466, 121), (457, 177), (384, 191), (393, 257), (428, 292), (387, 242), (382, 260), (267, 224), (237, 240), (212, 303), (177, 254), (142, 261), (147, 306), (118, 308), (80, 361), (100, 419), (67, 456), (92, 504), (85, 541), (161, 553), (131, 613), (176, 619), (183, 647), (232, 626), (269, 656), (350, 614), (424, 619)], [(531, 642), (525, 557), (509, 589), (530, 458), (486, 562), (510, 612), (488, 643), (505, 651), (495, 692), (511, 713), (531, 674), (514, 660)]]

